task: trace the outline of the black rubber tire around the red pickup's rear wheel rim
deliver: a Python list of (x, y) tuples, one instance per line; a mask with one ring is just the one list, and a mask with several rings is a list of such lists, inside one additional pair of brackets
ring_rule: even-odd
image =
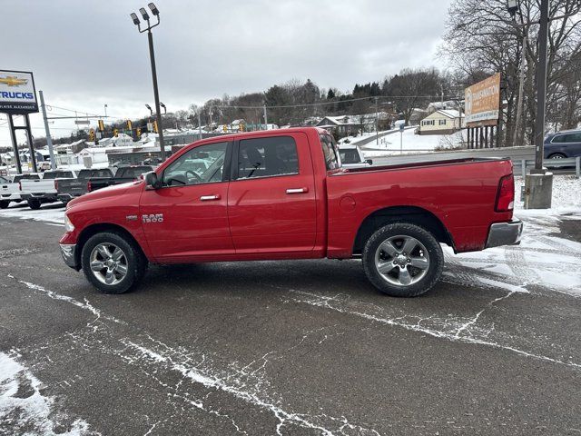
[[(407, 285), (397, 285), (389, 282), (388, 279), (384, 278), (384, 276), (379, 272), (378, 266), (376, 264), (376, 254), (383, 254), (381, 251), (378, 252), (379, 246), (382, 243), (387, 242), (389, 238), (396, 238), (395, 242), (393, 243), (394, 246), (399, 249), (403, 248), (395, 245), (397, 244), (397, 238), (399, 238), (399, 236), (415, 239), (419, 242), (419, 244), (423, 245), (423, 247), (416, 245), (414, 250), (421, 250), (422, 248), (425, 248), (427, 252), (427, 255), (423, 254), (423, 251), (415, 252), (424, 256), (423, 258), (419, 257), (420, 261), (428, 261), (428, 267), (423, 270), (424, 272), (422, 272), (422, 270), (419, 268), (415, 268), (410, 265), (410, 261), (407, 261), (408, 263), (405, 264), (404, 269), (408, 271), (409, 275), (411, 276), (411, 280), (413, 281), (418, 278), (417, 282), (410, 282)], [(409, 257), (412, 257), (411, 253), (409, 253)], [(403, 263), (405, 256), (403, 256), (401, 259)], [(398, 262), (399, 257), (393, 257), (392, 260), (394, 262)], [(391, 260), (385, 263), (388, 265), (388, 268), (391, 267), (390, 263)], [(393, 264), (395, 265), (395, 263)], [(386, 225), (385, 227), (381, 227), (377, 232), (373, 233), (369, 237), (363, 249), (363, 269), (369, 279), (369, 282), (378, 288), (379, 291), (392, 297), (417, 297), (422, 293), (428, 292), (434, 286), (434, 284), (438, 282), (439, 277), (442, 274), (443, 267), (444, 253), (442, 253), (442, 247), (439, 245), (438, 241), (432, 233), (429, 233), (424, 228), (415, 224), (393, 223)], [(395, 275), (399, 275), (399, 271), (403, 270), (400, 266), (393, 266), (392, 268), (392, 271), (395, 271), (393, 272)], [(413, 274), (416, 275), (414, 276)], [(421, 276), (422, 274), (423, 276)], [(398, 278), (396, 277), (392, 280), (397, 282)]]

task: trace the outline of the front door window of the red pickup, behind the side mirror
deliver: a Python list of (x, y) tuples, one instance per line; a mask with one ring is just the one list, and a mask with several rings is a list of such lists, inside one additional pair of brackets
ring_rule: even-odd
[(228, 143), (201, 145), (182, 154), (163, 172), (163, 186), (222, 182)]

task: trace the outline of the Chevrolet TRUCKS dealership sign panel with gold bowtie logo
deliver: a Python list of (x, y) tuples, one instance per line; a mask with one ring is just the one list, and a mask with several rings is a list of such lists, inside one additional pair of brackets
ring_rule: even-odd
[(32, 73), (0, 70), (0, 113), (31, 114), (38, 112)]

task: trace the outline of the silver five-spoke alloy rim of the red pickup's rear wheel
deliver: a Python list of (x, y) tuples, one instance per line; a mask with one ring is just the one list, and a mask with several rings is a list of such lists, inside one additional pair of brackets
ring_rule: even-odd
[(386, 282), (409, 286), (428, 273), (428, 250), (411, 236), (392, 236), (379, 244), (375, 252), (375, 267)]

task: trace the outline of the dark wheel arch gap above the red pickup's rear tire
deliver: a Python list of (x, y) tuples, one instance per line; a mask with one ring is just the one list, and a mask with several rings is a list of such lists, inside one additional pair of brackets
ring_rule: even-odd
[(369, 236), (389, 223), (411, 223), (432, 233), (438, 243), (454, 248), (454, 240), (446, 226), (434, 214), (419, 206), (391, 206), (370, 213), (359, 226), (353, 243), (353, 254), (363, 251)]

